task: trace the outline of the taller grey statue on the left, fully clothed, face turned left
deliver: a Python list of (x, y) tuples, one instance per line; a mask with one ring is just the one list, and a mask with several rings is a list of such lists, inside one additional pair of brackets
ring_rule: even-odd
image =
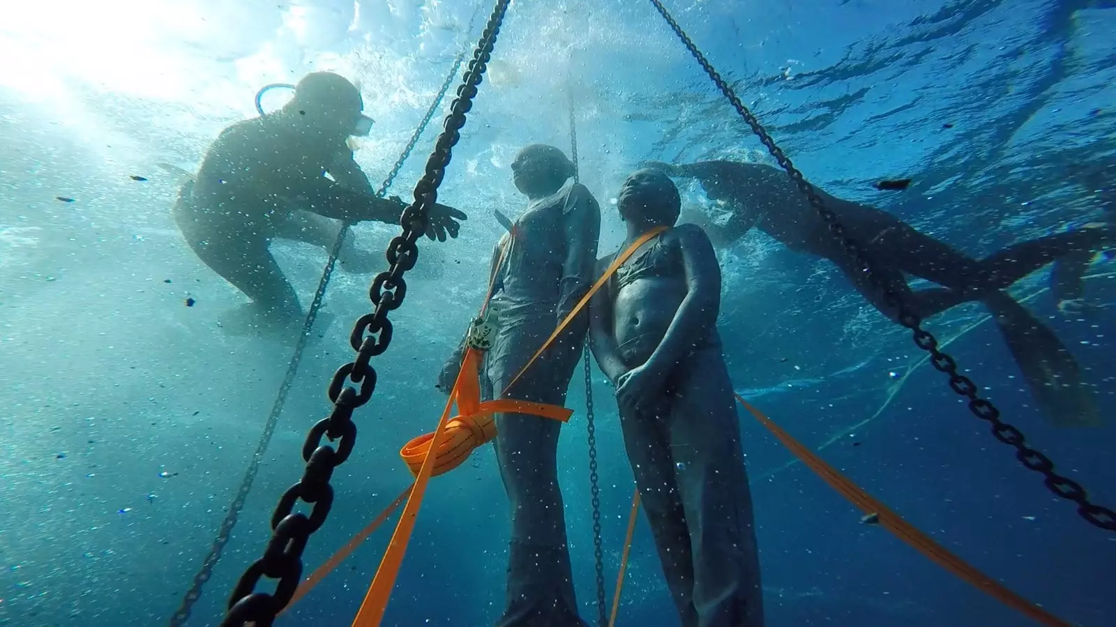
[[(585, 312), (516, 377), (593, 284), (600, 208), (574, 183), (573, 162), (554, 146), (525, 147), (511, 171), (528, 205), (492, 253), (488, 310), (498, 322), (480, 368), (481, 392), (484, 399), (564, 405), (588, 328)], [(463, 353), (462, 341), (439, 376), (442, 392), (453, 389)], [(511, 502), (507, 605), (498, 625), (587, 627), (577, 612), (558, 486), (561, 423), (504, 413), (496, 424), (497, 462)]]

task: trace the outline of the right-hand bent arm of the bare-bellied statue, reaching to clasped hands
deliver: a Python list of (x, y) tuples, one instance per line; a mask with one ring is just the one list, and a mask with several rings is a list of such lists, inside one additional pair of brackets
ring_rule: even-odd
[(644, 368), (670, 372), (689, 350), (693, 350), (716, 325), (721, 307), (721, 267), (709, 237), (698, 226), (684, 224), (671, 231), (682, 252), (686, 296), (682, 299), (666, 334)]

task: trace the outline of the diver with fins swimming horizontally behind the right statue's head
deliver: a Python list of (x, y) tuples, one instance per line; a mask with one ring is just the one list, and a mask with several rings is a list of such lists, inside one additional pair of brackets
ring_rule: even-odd
[[(715, 244), (729, 245), (756, 226), (795, 252), (833, 261), (868, 302), (897, 319), (898, 312), (872, 287), (868, 274), (857, 267), (782, 170), (731, 161), (643, 165), (671, 176), (696, 179), (711, 200), (721, 201), (732, 210), (724, 225), (696, 216)], [(1113, 229), (1090, 226), (1047, 235), (978, 260), (916, 231), (886, 211), (815, 189), (826, 208), (837, 214), (848, 238), (873, 262), (876, 277), (915, 315), (925, 319), (955, 305), (980, 300), (991, 310), (1047, 418), (1064, 426), (1099, 423), (1096, 404), (1080, 380), (1077, 361), (1052, 331), (1002, 290), (1060, 257), (1103, 247), (1113, 241), (1116, 234)], [(943, 287), (914, 291), (904, 273)]]

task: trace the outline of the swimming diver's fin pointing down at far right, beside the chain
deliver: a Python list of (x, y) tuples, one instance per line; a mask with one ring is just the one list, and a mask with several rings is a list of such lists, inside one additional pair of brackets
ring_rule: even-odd
[(1077, 360), (1049, 328), (1004, 292), (982, 299), (1023, 372), (1043, 417), (1056, 426), (1099, 426), (1093, 393)]

